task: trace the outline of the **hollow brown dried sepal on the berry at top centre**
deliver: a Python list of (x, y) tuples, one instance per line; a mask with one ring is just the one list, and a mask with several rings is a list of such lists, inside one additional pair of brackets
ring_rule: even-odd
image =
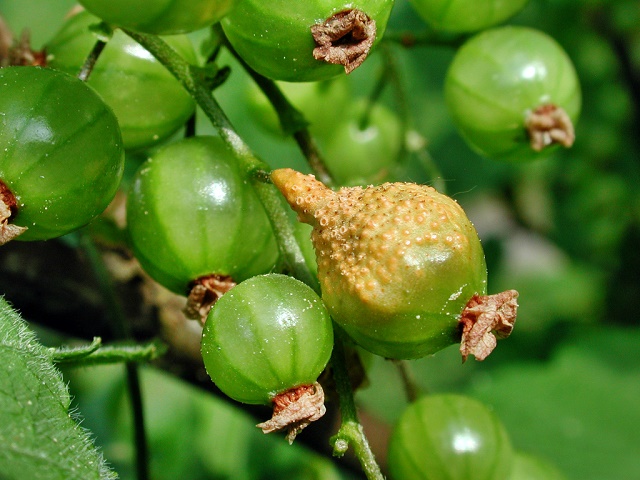
[(344, 65), (353, 72), (365, 61), (376, 39), (376, 22), (361, 10), (343, 10), (311, 26), (313, 58)]

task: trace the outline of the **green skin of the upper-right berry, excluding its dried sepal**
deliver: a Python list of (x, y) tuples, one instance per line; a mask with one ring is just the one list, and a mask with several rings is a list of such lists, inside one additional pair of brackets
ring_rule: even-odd
[(507, 26), (484, 31), (456, 53), (445, 80), (454, 123), (479, 154), (523, 161), (549, 152), (531, 149), (527, 115), (541, 105), (561, 107), (575, 125), (580, 85), (571, 60), (540, 31)]

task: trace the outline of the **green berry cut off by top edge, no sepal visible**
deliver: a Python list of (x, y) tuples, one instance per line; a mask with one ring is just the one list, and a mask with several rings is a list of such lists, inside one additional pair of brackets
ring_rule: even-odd
[(155, 35), (188, 33), (226, 15), (235, 0), (80, 0), (105, 22)]

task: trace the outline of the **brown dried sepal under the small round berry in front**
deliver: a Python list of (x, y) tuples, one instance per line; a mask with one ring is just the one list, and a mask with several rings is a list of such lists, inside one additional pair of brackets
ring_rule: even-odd
[(292, 444), (296, 436), (311, 422), (322, 418), (327, 411), (324, 391), (318, 382), (287, 390), (273, 399), (271, 420), (256, 425), (264, 433), (287, 430), (287, 440)]

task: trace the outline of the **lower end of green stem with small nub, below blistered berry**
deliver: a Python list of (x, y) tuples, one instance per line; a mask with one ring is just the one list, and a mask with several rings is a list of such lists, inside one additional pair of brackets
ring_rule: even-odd
[(384, 475), (382, 475), (380, 466), (376, 462), (367, 437), (364, 434), (362, 424), (358, 419), (358, 411), (353, 398), (353, 389), (351, 388), (351, 381), (349, 380), (349, 374), (347, 372), (346, 356), (342, 339), (344, 333), (340, 327), (335, 324), (334, 331), (335, 337), (333, 353), (331, 354), (331, 369), (338, 392), (342, 422), (338, 433), (331, 437), (333, 454), (336, 457), (341, 457), (346, 453), (349, 446), (352, 446), (367, 478), (369, 480), (384, 480)]

